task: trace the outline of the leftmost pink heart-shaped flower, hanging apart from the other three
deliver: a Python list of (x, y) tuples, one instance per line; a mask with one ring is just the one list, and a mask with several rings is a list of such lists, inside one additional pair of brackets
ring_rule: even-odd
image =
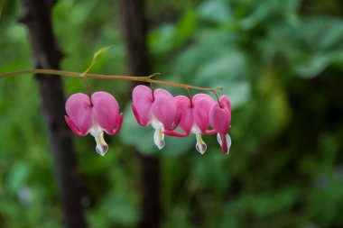
[(108, 150), (104, 132), (119, 132), (123, 122), (116, 98), (107, 92), (96, 92), (90, 97), (74, 94), (67, 100), (66, 112), (70, 129), (79, 136), (90, 133), (97, 141), (97, 153), (104, 156)]

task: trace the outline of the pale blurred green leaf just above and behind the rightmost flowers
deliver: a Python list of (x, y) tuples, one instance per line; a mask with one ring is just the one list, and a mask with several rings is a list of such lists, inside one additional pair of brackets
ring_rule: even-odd
[[(206, 55), (201, 53), (206, 52)], [(239, 51), (217, 45), (198, 45), (186, 50), (178, 60), (177, 74), (190, 75), (190, 84), (199, 87), (224, 87), (232, 106), (244, 105), (250, 96), (246, 57)]]

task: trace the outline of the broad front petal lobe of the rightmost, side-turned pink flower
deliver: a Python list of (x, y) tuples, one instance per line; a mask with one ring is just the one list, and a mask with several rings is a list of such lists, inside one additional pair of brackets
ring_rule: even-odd
[(219, 133), (227, 133), (231, 122), (231, 114), (218, 104), (213, 105), (209, 111), (209, 123)]

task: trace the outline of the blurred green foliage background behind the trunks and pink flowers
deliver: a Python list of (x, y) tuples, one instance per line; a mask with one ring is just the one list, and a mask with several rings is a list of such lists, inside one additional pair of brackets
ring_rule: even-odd
[[(225, 87), (232, 148), (205, 136), (153, 145), (131, 114), (132, 85), (89, 79), (116, 96), (125, 122), (107, 137), (74, 137), (89, 227), (136, 227), (141, 219), (134, 148), (161, 162), (162, 227), (343, 227), (343, 3), (340, 0), (147, 0), (148, 47), (159, 79)], [(32, 68), (18, 1), (3, 2), (0, 73)], [(114, 49), (93, 73), (124, 75), (116, 1), (59, 0), (52, 23), (61, 68), (83, 72), (101, 47)], [(152, 73), (153, 73), (152, 72)], [(85, 92), (64, 78), (67, 96)], [(158, 87), (158, 86), (156, 86)], [(168, 88), (174, 96), (187, 93)], [(194, 91), (195, 92), (195, 91)], [(0, 80), (0, 226), (60, 227), (47, 129), (32, 76)]]

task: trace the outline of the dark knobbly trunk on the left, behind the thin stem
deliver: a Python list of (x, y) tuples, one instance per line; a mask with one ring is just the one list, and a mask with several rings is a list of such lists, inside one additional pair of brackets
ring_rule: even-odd
[[(51, 7), (55, 1), (22, 0), (19, 22), (28, 27), (36, 68), (59, 68), (62, 57), (51, 27)], [(64, 92), (60, 77), (36, 76), (42, 99), (42, 112), (49, 132), (54, 172), (59, 187), (64, 227), (87, 227), (80, 205), (77, 158), (70, 130), (64, 122)]]

